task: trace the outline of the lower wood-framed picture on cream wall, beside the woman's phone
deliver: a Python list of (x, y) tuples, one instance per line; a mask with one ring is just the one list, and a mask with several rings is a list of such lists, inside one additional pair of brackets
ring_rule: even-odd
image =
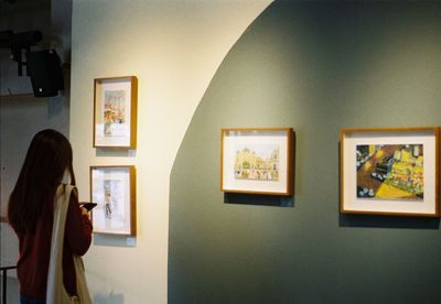
[(90, 202), (95, 234), (136, 235), (135, 166), (92, 166)]

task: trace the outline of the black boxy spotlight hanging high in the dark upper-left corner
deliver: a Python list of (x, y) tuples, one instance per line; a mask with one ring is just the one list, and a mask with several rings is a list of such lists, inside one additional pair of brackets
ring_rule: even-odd
[(26, 52), (26, 69), (35, 97), (51, 97), (64, 89), (60, 56), (55, 50)]

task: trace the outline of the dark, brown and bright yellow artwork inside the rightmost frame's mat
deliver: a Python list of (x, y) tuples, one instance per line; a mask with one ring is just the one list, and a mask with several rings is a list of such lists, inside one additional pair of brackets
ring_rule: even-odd
[(423, 199), (422, 144), (356, 145), (357, 197)]

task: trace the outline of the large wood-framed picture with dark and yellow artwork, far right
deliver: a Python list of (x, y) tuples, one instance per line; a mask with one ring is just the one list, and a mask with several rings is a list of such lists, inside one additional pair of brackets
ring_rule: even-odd
[(439, 216), (438, 127), (341, 131), (341, 211)]

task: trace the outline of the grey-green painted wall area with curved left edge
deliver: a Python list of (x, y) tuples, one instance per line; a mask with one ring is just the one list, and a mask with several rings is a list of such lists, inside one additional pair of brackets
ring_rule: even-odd
[[(438, 303), (439, 219), (341, 215), (338, 132), (440, 126), (440, 32), (439, 2), (265, 10), (216, 72), (173, 165), (169, 302)], [(293, 207), (219, 191), (220, 129), (247, 127), (294, 129)]]

